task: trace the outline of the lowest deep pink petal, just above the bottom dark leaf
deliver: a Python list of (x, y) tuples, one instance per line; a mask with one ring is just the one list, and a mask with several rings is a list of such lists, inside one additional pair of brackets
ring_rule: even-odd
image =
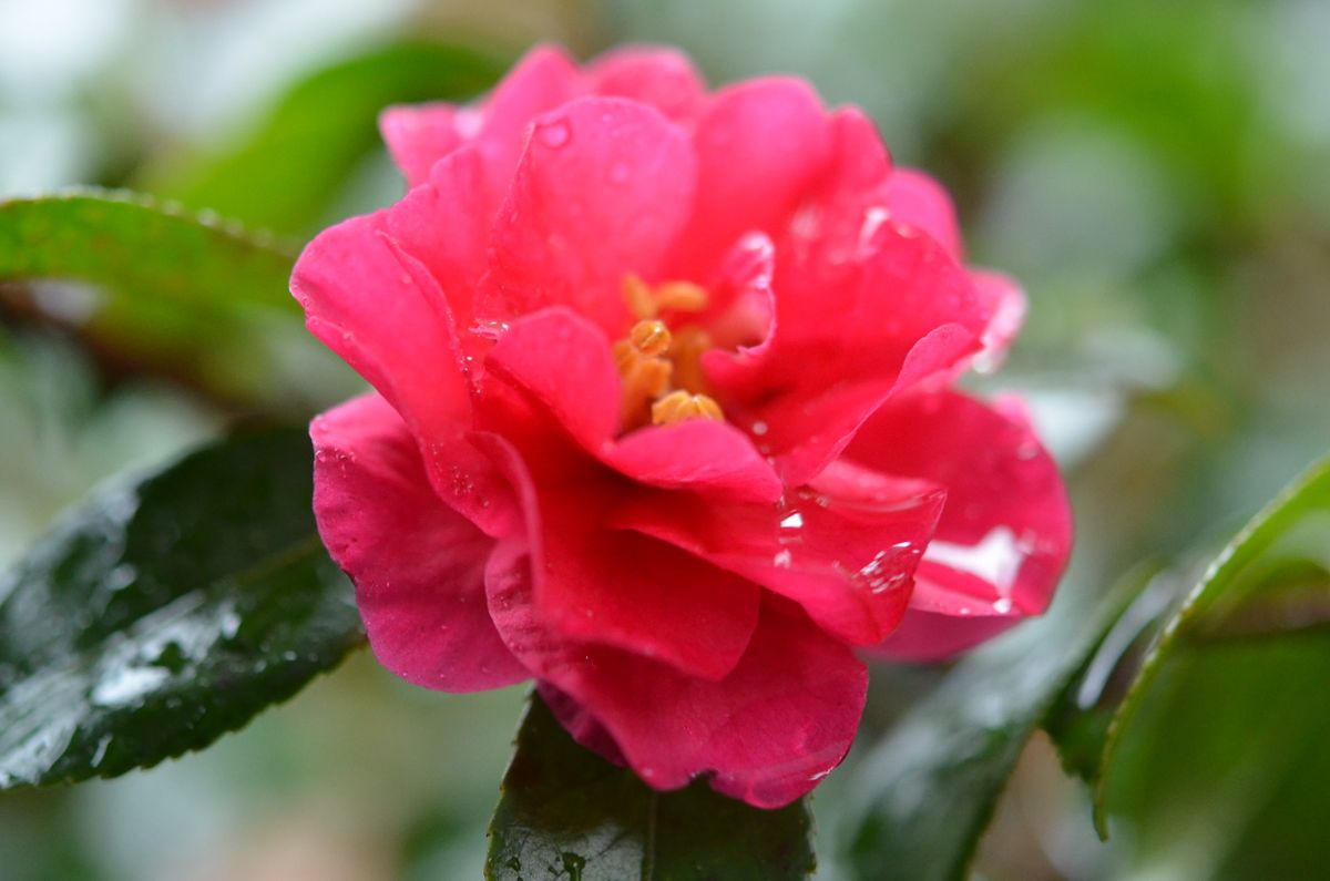
[(485, 575), (489, 606), (513, 653), (568, 707), (575, 733), (601, 729), (657, 789), (700, 775), (759, 808), (806, 794), (845, 757), (867, 688), (863, 665), (802, 614), (771, 599), (738, 667), (720, 681), (686, 676), (632, 653), (571, 644), (541, 625), (531, 600), (531, 564), (505, 546)]

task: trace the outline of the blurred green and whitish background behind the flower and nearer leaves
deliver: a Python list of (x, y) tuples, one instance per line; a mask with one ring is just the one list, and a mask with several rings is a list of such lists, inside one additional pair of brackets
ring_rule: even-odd
[[(976, 385), (1027, 395), (1068, 470), (1065, 591), (1213, 546), (1330, 446), (1326, 0), (0, 0), (0, 198), (130, 188), (298, 246), (400, 194), (382, 105), (473, 94), (537, 41), (677, 44), (713, 84), (798, 73), (951, 189), (972, 261), (1029, 293)], [(98, 479), (354, 386), (302, 339), (299, 401), (215, 394), (89, 345), (68, 291), (37, 305), (0, 297), (0, 564)], [(862, 740), (939, 675), (875, 669)], [(414, 689), (359, 652), (206, 753), (0, 796), (0, 877), (477, 878), (521, 701)], [(1190, 820), (1141, 808), (1100, 844), (1040, 736), (975, 870), (1315, 877), (1330, 809), (1290, 800), (1290, 768), (1260, 765), (1241, 810), (1184, 787), (1168, 816)], [(845, 776), (814, 800), (823, 832)]]

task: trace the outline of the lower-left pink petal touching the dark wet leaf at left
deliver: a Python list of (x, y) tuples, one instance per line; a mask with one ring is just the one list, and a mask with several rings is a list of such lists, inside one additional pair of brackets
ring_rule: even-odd
[(528, 677), (485, 604), (493, 547), (430, 488), (402, 418), (375, 394), (317, 418), (314, 512), (355, 583), (379, 661), (407, 681), (464, 692)]

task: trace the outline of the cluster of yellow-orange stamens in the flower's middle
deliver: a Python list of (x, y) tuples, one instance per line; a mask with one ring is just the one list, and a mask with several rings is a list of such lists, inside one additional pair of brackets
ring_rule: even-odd
[(702, 311), (706, 290), (686, 281), (652, 287), (629, 274), (624, 299), (637, 318), (628, 337), (614, 343), (614, 363), (624, 382), (624, 431), (684, 419), (722, 422), (720, 405), (705, 394), (702, 353), (712, 347), (710, 337), (701, 327), (670, 331), (660, 319), (666, 311)]

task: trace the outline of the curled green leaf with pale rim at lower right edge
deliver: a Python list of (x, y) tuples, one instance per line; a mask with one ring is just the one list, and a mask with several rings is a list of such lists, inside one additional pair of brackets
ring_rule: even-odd
[[(1096, 820), (1185, 877), (1317, 877), (1330, 787), (1330, 458), (1218, 555), (1108, 729)], [(1254, 873), (1254, 874), (1253, 874)]]

